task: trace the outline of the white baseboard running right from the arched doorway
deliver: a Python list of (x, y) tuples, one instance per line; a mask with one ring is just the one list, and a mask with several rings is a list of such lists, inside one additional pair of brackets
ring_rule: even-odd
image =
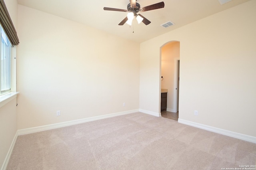
[(201, 129), (204, 129), (204, 130), (211, 131), (211, 132), (224, 134), (226, 136), (230, 136), (230, 137), (233, 137), (233, 138), (238, 138), (238, 139), (245, 140), (245, 141), (248, 141), (248, 142), (256, 143), (256, 137), (254, 137), (254, 136), (249, 136), (249, 135), (246, 135), (246, 134), (232, 132), (232, 131), (224, 130), (224, 129), (221, 129), (221, 128), (210, 127), (208, 125), (203, 125), (203, 124), (200, 124), (200, 123), (190, 122), (190, 121), (186, 121), (186, 120), (183, 120), (183, 119), (178, 119), (178, 123), (182, 123), (182, 124), (185, 124), (185, 125), (190, 125), (192, 127), (197, 127), (197, 128), (201, 128)]

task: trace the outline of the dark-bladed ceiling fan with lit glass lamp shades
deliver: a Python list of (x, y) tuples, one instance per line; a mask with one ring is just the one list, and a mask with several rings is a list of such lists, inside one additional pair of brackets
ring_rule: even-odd
[(122, 26), (124, 23), (127, 23), (129, 25), (132, 25), (132, 20), (134, 16), (136, 17), (136, 20), (140, 24), (140, 22), (143, 22), (145, 25), (150, 24), (151, 22), (146, 19), (144, 16), (141, 14), (137, 14), (138, 12), (145, 12), (145, 11), (150, 11), (150, 10), (156, 10), (159, 8), (164, 8), (164, 2), (159, 2), (150, 6), (145, 6), (140, 8), (140, 4), (136, 2), (136, 0), (130, 0), (130, 4), (127, 5), (127, 10), (122, 10), (122, 9), (117, 9), (117, 8), (108, 8), (104, 7), (104, 10), (107, 11), (120, 11), (120, 12), (128, 12), (126, 18), (122, 20), (118, 25)]

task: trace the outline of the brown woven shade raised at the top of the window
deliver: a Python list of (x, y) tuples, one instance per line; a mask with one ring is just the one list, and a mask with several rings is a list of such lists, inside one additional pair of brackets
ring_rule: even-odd
[(8, 13), (4, 0), (0, 0), (0, 24), (6, 33), (6, 36), (10, 40), (12, 45), (18, 45), (19, 39), (17, 32), (12, 24), (11, 17)]

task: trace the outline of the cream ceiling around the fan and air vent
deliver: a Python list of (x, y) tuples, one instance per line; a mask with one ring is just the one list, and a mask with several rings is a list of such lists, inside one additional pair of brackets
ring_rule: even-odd
[[(162, 1), (164, 8), (138, 13), (151, 21), (149, 25), (138, 24), (134, 20), (131, 27), (128, 24), (118, 26), (127, 16), (126, 12), (103, 10), (103, 7), (126, 10), (129, 0), (18, 0), (18, 4), (136, 42), (144, 42), (249, 0), (231, 0), (223, 5), (220, 2), (225, 0), (137, 0), (137, 3), (144, 7)], [(168, 28), (160, 26), (168, 21), (175, 25)]]

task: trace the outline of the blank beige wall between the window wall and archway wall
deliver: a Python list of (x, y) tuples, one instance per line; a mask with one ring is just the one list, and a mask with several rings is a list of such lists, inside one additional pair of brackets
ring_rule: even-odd
[(18, 35), (18, 129), (139, 109), (139, 43), (20, 5)]

